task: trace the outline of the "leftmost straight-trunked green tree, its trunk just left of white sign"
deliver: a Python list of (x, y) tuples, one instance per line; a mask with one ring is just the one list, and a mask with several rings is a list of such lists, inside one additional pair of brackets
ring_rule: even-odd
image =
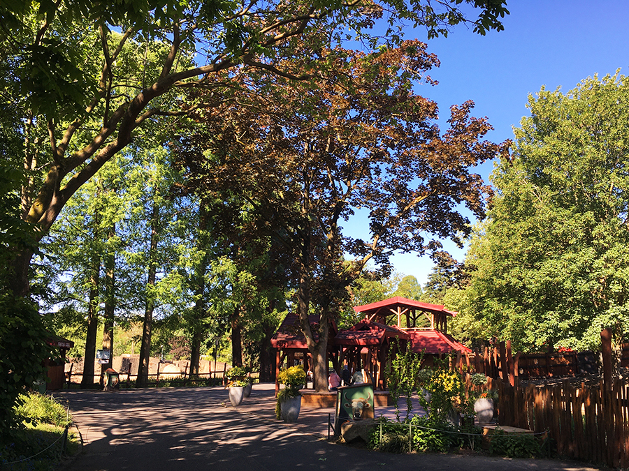
[[(108, 328), (103, 342), (111, 347), (116, 298), (123, 296), (116, 292), (114, 275), (116, 256), (122, 251), (122, 240), (115, 227), (127, 214), (126, 199), (122, 197), (124, 170), (120, 159), (111, 160), (66, 205), (59, 223), (42, 244), (43, 264), (48, 265), (52, 279), (38, 278), (38, 283), (48, 285), (48, 304), (59, 308), (54, 316), (61, 318), (55, 324), (64, 320), (76, 322), (75, 313), (85, 316), (79, 322), (81, 326), (75, 325), (75, 332), (86, 337), (83, 387), (93, 384), (99, 322), (104, 314)], [(119, 278), (123, 278), (120, 273)], [(44, 287), (38, 291), (43, 290)]]

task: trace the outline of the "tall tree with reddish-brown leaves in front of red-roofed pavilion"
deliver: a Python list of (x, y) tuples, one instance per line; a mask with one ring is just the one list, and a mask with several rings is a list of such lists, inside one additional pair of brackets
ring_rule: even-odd
[[(180, 144), (194, 185), (250, 204), (250, 227), (280, 241), (293, 260), (318, 388), (326, 387), (329, 321), (367, 262), (386, 273), (393, 251), (432, 252), (436, 237), (458, 241), (469, 226), (457, 204), (483, 212), (486, 187), (469, 166), (500, 146), (483, 140), (491, 127), (470, 117), (471, 103), (452, 107), (440, 133), (436, 105), (410, 91), (436, 61), (425, 49), (409, 41), (373, 54), (321, 51), (335, 73), (310, 88), (243, 75), (238, 100), (214, 94), (219, 103), (198, 116), (203, 130)], [(252, 83), (266, 95), (243, 93)], [(356, 209), (368, 212), (369, 241), (342, 234)], [(354, 259), (345, 262), (344, 253)], [(317, 326), (308, 322), (311, 309)]]

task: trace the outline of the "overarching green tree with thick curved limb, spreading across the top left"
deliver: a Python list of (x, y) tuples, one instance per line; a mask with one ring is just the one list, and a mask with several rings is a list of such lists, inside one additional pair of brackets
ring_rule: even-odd
[[(383, 10), (388, 12), (389, 39), (399, 38), (393, 27), (400, 19), (425, 24), (433, 36), (447, 34), (449, 25), (467, 21), (459, 3), (438, 2), (439, 10), (430, 0), (382, 5), (253, 1), (246, 6), (226, 0), (3, 2), (0, 85), (15, 102), (10, 122), (24, 136), (26, 158), (12, 161), (29, 172), (22, 218), (37, 225), (41, 239), (70, 197), (131, 142), (140, 126), (196, 105), (169, 95), (207, 87), (224, 70), (256, 68), (298, 78), (277, 63), (277, 50), (305, 31), (308, 47), (293, 49), (302, 59), (344, 40), (346, 31), (377, 43), (369, 27)], [(473, 22), (479, 33), (502, 28), (500, 17), (508, 13), (504, 1), (465, 3), (479, 8)], [(137, 54), (128, 54), (129, 45)], [(193, 54), (203, 59), (192, 63), (188, 58)], [(224, 85), (229, 82), (228, 77)], [(17, 249), (10, 287), (24, 296), (33, 251)]]

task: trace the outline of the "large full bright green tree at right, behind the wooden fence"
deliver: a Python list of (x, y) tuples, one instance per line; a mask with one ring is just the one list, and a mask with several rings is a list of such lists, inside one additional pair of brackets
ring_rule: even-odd
[(466, 261), (478, 335), (535, 351), (598, 348), (606, 327), (627, 334), (628, 103), (618, 73), (529, 97)]

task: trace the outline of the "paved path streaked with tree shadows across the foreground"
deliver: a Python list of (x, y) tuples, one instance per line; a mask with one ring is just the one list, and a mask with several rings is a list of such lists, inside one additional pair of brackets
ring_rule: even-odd
[[(458, 454), (383, 454), (326, 440), (328, 409), (274, 417), (273, 385), (256, 384), (233, 408), (215, 388), (68, 390), (83, 447), (70, 471), (133, 470), (595, 470), (584, 463)], [(376, 411), (390, 414), (391, 410)]]

